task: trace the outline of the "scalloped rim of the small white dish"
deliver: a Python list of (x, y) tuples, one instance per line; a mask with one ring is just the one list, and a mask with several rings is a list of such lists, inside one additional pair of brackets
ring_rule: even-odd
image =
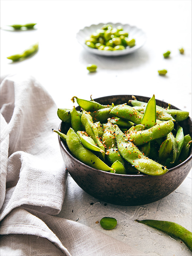
[[(100, 51), (100, 54), (99, 55), (102, 55), (102, 56), (118, 56), (118, 55), (124, 55), (124, 54), (129, 54), (129, 53), (132, 53), (138, 49), (140, 49), (145, 43), (146, 43), (146, 40), (147, 40), (147, 34), (146, 32), (141, 29), (140, 27), (137, 27), (137, 26), (134, 26), (134, 25), (130, 25), (128, 23), (121, 23), (121, 22), (107, 22), (107, 23), (97, 23), (97, 24), (91, 24), (90, 26), (85, 26), (83, 27), (82, 29), (79, 29), (79, 31), (76, 33), (76, 39), (77, 41), (83, 46), (83, 48), (91, 53), (95, 53), (97, 54), (98, 53), (98, 49), (94, 49), (94, 48), (90, 48), (88, 47), (87, 45), (85, 45), (85, 43), (82, 43), (81, 40), (79, 40), (79, 33), (81, 32), (84, 32), (85, 29), (89, 29), (91, 26), (103, 26), (105, 24), (110, 24), (110, 25), (113, 25), (113, 26), (130, 26), (131, 28), (136, 28), (138, 29), (140, 32), (143, 33), (143, 37), (144, 37), (144, 40), (143, 42), (140, 44), (140, 45), (135, 45), (134, 47), (132, 48), (126, 48), (124, 50), (121, 50), (121, 51)], [(86, 46), (86, 47), (85, 47)], [(120, 54), (121, 53), (121, 54)]]

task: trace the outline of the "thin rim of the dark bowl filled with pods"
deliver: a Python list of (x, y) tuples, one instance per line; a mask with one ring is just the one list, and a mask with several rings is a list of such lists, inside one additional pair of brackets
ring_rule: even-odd
[[(100, 97), (100, 98), (117, 97), (117, 96), (118, 96), (118, 97), (121, 97), (121, 96), (125, 96), (125, 95), (127, 95), (127, 94), (122, 94), (122, 95), (107, 95), (107, 96), (103, 96), (103, 97)], [(147, 97), (147, 96), (141, 96), (141, 95), (134, 95), (134, 96), (135, 96), (136, 98), (137, 98), (137, 97), (145, 97), (145, 98), (149, 98), (149, 99), (150, 99), (150, 97)], [(100, 98), (95, 98), (94, 100), (97, 101), (97, 99), (100, 99)], [(158, 100), (158, 99), (156, 99), (156, 100), (157, 100), (157, 101), (161, 101), (161, 102), (163, 102), (163, 103), (165, 103), (165, 104), (168, 105), (168, 103), (166, 103), (165, 101)], [(172, 104), (171, 104), (171, 106), (172, 106), (173, 108), (175, 108), (175, 109), (180, 110), (180, 108), (175, 107), (175, 106), (173, 106)], [(79, 106), (77, 106), (76, 108), (78, 108), (78, 107), (79, 107)], [(191, 124), (192, 124), (192, 119), (191, 119), (191, 117), (188, 117), (188, 118), (189, 118), (189, 120), (191, 121)], [(61, 121), (61, 123), (59, 124), (58, 130), (61, 129), (61, 124), (62, 124), (62, 123), (65, 123), (65, 122)], [(85, 163), (79, 161), (77, 158), (75, 158), (75, 157), (66, 149), (64, 140), (63, 140), (59, 135), (58, 135), (58, 140), (59, 140), (59, 144), (62, 146), (62, 148), (65, 150), (65, 152), (66, 152), (72, 159), (74, 159), (75, 161), (77, 161), (79, 164), (84, 165), (84, 166), (87, 167), (87, 168), (91, 168), (93, 171), (108, 173), (108, 174), (110, 174), (110, 175), (115, 175), (115, 176), (120, 175), (121, 177), (122, 177), (122, 176), (124, 176), (124, 177), (138, 177), (138, 176), (139, 176), (139, 177), (148, 177), (148, 178), (149, 178), (149, 176), (150, 176), (150, 177), (154, 177), (154, 178), (155, 178), (155, 177), (164, 176), (164, 175), (168, 174), (169, 172), (172, 172), (172, 171), (174, 171), (175, 169), (181, 167), (181, 166), (184, 165), (186, 162), (190, 161), (191, 158), (192, 158), (192, 149), (191, 149), (190, 155), (188, 156), (188, 158), (185, 159), (185, 161), (183, 161), (182, 163), (180, 163), (179, 165), (177, 165), (177, 166), (175, 166), (175, 167), (172, 167), (172, 168), (168, 169), (168, 172), (166, 172), (166, 173), (163, 174), (163, 175), (157, 175), (157, 176), (155, 176), (155, 175), (146, 175), (146, 174), (136, 174), (136, 175), (135, 175), (135, 174), (115, 174), (115, 173), (113, 173), (113, 172), (107, 172), (107, 171), (102, 171), (102, 170), (100, 170), (100, 169), (95, 169), (95, 168), (93, 168), (93, 167), (91, 167), (91, 166), (89, 166), (89, 165), (86, 165)]]

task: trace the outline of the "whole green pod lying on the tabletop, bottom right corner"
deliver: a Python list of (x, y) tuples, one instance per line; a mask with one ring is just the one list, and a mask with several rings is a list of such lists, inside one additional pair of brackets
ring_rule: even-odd
[(192, 233), (181, 225), (164, 220), (136, 220), (155, 229), (161, 230), (171, 237), (180, 239), (192, 252)]

